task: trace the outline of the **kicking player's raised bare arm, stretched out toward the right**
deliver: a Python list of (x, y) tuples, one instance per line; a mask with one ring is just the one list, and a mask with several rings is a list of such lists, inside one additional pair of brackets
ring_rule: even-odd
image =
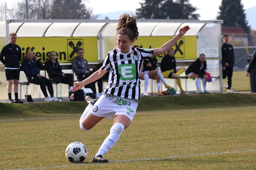
[(185, 33), (189, 29), (190, 29), (190, 27), (188, 25), (182, 27), (181, 29), (179, 29), (179, 33), (175, 37), (173, 37), (170, 41), (163, 44), (163, 46), (160, 48), (154, 48), (154, 53), (151, 58), (153, 58), (154, 56), (166, 53), (169, 49), (171, 49), (175, 45), (175, 43), (177, 43), (177, 41), (180, 39), (180, 37), (185, 35)]

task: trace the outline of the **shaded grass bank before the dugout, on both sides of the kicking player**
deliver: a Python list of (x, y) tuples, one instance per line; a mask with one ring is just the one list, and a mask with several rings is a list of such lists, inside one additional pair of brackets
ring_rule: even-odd
[[(255, 106), (255, 102), (256, 94), (243, 93), (142, 97), (141, 102), (138, 104), (137, 112)], [(17, 114), (82, 114), (85, 108), (85, 101), (29, 104), (0, 103), (0, 116)]]

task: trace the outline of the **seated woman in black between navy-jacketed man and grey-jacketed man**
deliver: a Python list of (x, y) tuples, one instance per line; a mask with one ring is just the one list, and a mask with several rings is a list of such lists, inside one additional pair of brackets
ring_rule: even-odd
[(49, 79), (54, 81), (55, 83), (64, 83), (68, 84), (69, 91), (71, 92), (73, 88), (73, 74), (70, 73), (63, 73), (62, 68), (56, 59), (57, 55), (55, 51), (51, 52), (50, 57), (45, 62), (45, 68), (48, 73)]

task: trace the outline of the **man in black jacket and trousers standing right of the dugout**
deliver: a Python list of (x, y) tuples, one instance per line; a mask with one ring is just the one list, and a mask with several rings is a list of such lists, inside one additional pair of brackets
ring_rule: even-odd
[(222, 75), (223, 79), (228, 76), (228, 86), (226, 87), (228, 93), (234, 93), (231, 90), (232, 85), (232, 75), (233, 75), (233, 67), (235, 63), (235, 56), (234, 56), (234, 49), (231, 44), (229, 44), (229, 37), (228, 35), (223, 36), (223, 42), (221, 49), (222, 49)]

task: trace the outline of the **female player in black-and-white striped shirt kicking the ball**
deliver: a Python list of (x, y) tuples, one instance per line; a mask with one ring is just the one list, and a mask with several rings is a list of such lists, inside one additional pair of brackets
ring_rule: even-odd
[(84, 85), (98, 80), (107, 71), (110, 71), (108, 85), (104, 89), (103, 95), (96, 102), (86, 97), (88, 105), (79, 121), (80, 128), (88, 131), (105, 117), (114, 119), (109, 136), (100, 146), (92, 162), (108, 162), (102, 156), (115, 145), (121, 133), (130, 125), (136, 114), (140, 101), (140, 72), (143, 60), (166, 53), (190, 29), (189, 26), (181, 28), (174, 38), (160, 48), (143, 49), (131, 47), (139, 34), (136, 16), (125, 13), (119, 17), (118, 21), (117, 46), (108, 52), (101, 69), (87, 79), (76, 82), (72, 89), (72, 91), (81, 89)]

